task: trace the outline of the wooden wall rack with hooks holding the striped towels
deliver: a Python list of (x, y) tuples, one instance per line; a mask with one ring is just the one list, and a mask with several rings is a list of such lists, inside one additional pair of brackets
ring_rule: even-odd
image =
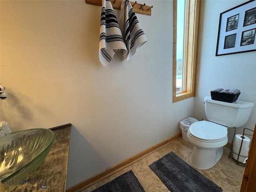
[[(114, 9), (121, 9), (121, 4), (123, 2), (123, 0), (111, 0), (110, 1), (112, 3), (112, 6)], [(101, 0), (86, 0), (87, 4), (91, 4), (91, 5), (97, 5), (97, 6), (102, 6), (102, 1)], [(148, 6), (145, 3), (144, 4), (139, 4), (137, 3), (137, 1), (135, 2), (131, 2), (132, 8), (134, 10), (135, 13), (139, 13), (139, 14), (144, 14), (144, 15), (151, 15), (151, 8), (153, 8), (153, 6)]]

